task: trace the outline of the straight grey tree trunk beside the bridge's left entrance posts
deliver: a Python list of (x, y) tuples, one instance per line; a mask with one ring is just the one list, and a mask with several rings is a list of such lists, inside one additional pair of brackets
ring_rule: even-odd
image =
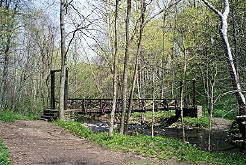
[(66, 79), (66, 67), (67, 57), (65, 52), (65, 0), (61, 0), (60, 3), (60, 31), (61, 31), (61, 77), (60, 77), (60, 95), (59, 95), (59, 119), (65, 120), (64, 116), (64, 100), (65, 100), (65, 79)]

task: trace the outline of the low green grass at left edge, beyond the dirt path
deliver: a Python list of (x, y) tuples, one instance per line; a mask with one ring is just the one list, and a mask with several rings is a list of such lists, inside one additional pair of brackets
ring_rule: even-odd
[(16, 120), (35, 120), (38, 119), (38, 117), (34, 116), (22, 116), (15, 114), (11, 111), (1, 111), (0, 112), (0, 121), (6, 122), (6, 123), (13, 123)]

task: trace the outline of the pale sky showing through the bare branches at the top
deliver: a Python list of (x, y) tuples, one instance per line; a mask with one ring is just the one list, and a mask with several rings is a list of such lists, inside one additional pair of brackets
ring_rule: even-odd
[[(60, 0), (32, 0), (32, 1), (33, 1), (33, 5), (37, 9), (42, 9), (49, 16), (49, 18), (56, 25), (56, 27), (59, 27), (59, 23), (60, 23), (59, 22), (59, 20), (60, 20), (60, 18), (59, 18)], [(71, 0), (68, 0), (68, 1), (71, 1)], [(164, 1), (170, 1), (170, 0), (164, 0)], [(72, 4), (84, 17), (86, 17), (87, 15), (89, 15), (92, 12), (94, 7), (102, 8), (102, 6), (100, 6), (99, 2), (100, 1), (98, 1), (98, 0), (73, 0)], [(162, 4), (160, 4), (160, 5), (162, 6)], [(153, 6), (156, 6), (156, 5), (151, 5), (149, 7), (153, 7)], [(158, 9), (153, 8), (151, 14), (153, 15), (155, 12), (158, 12), (159, 10), (160, 10), (159, 8)], [(71, 32), (75, 29), (74, 25), (71, 24), (71, 21), (73, 21), (73, 23), (75, 23), (75, 24), (80, 24), (80, 22), (81, 22), (81, 18), (76, 13), (76, 11), (74, 9), (72, 9), (71, 11), (73, 12), (73, 14), (69, 14), (70, 12), (68, 12), (68, 14), (65, 16), (65, 22), (66, 22), (65, 29), (66, 29), (67, 33)], [(89, 21), (93, 20), (96, 17), (98, 17), (98, 16), (96, 14), (93, 14), (88, 18), (88, 20)], [(100, 25), (101, 28), (107, 29), (105, 27), (105, 23), (102, 24), (102, 22), (103, 22), (102, 20), (101, 20), (101, 22), (97, 21), (97, 24)], [(87, 23), (88, 23), (88, 21), (87, 21)], [(104, 27), (102, 25), (104, 25)], [(98, 27), (93, 27), (93, 28), (97, 28), (97, 30), (98, 30)], [(101, 30), (101, 29), (99, 29), (99, 30)], [(97, 35), (96, 31), (92, 31), (92, 34)], [(70, 37), (71, 37), (71, 35), (66, 38), (67, 43), (69, 42)], [(58, 39), (60, 39), (60, 38), (58, 38)], [(80, 35), (80, 39), (81, 39), (80, 41), (77, 41), (78, 42), (77, 45), (80, 46), (79, 47), (79, 51), (80, 51), (79, 54), (81, 54), (81, 58), (91, 59), (91, 58), (95, 57), (96, 53), (90, 48), (90, 46), (87, 45), (87, 44), (95, 45), (95, 41), (86, 35), (83, 35), (83, 36)], [(107, 42), (106, 39), (104, 40), (104, 42)], [(59, 41), (57, 43), (59, 43)]]

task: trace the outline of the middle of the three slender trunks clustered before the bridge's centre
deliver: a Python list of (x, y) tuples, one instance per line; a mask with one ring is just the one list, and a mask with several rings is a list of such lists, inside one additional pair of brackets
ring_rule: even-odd
[(129, 20), (131, 16), (131, 0), (127, 0), (127, 15), (126, 15), (126, 47), (125, 47), (125, 58), (124, 58), (124, 71), (123, 71), (123, 84), (122, 84), (122, 113), (120, 122), (120, 133), (124, 132), (125, 115), (126, 115), (126, 104), (127, 104), (127, 79), (128, 79), (128, 60), (129, 60)]

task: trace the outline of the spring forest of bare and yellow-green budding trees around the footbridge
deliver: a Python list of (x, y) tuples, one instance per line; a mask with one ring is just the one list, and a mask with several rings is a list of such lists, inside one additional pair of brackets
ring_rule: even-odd
[[(126, 134), (130, 119), (143, 118), (131, 113), (133, 99), (176, 99), (186, 141), (192, 119), (183, 107), (192, 104), (195, 82), (205, 127), (211, 133), (214, 120), (229, 121), (246, 148), (244, 0), (1, 0), (0, 35), (1, 112), (40, 118), (58, 69), (57, 125), (69, 127), (62, 123), (68, 83), (68, 98), (112, 99), (109, 136)], [(154, 109), (145, 115), (152, 137)]]

